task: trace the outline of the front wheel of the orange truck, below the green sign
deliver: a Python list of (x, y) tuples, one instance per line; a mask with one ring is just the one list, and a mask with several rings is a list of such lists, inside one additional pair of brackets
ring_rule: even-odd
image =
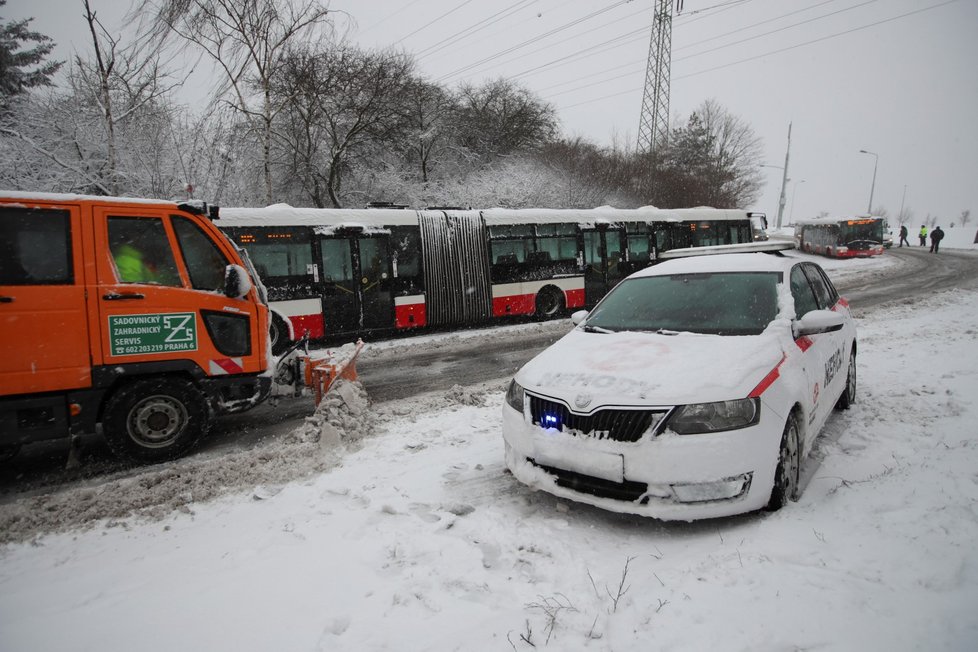
[(190, 450), (207, 432), (207, 401), (189, 381), (137, 380), (105, 404), (102, 430), (112, 452), (137, 463), (171, 460)]

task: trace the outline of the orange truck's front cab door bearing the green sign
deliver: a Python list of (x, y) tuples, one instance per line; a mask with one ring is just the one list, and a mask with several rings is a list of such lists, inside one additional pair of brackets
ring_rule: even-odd
[(223, 293), (226, 255), (187, 216), (95, 208), (102, 363), (263, 371), (256, 304)]

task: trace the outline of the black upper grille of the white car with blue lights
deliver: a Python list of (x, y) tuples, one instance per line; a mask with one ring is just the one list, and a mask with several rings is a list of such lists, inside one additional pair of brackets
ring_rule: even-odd
[(593, 414), (581, 415), (574, 414), (563, 403), (532, 394), (527, 396), (530, 399), (530, 415), (534, 425), (598, 439), (638, 441), (650, 427), (658, 424), (666, 414), (666, 410), (608, 408), (598, 410)]

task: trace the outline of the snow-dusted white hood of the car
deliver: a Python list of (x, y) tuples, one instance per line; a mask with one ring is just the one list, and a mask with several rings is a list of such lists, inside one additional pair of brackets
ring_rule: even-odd
[[(744, 398), (782, 360), (773, 328), (760, 335), (586, 333), (576, 328), (516, 375), (525, 389), (588, 409)], [(575, 408), (576, 409), (576, 408)]]

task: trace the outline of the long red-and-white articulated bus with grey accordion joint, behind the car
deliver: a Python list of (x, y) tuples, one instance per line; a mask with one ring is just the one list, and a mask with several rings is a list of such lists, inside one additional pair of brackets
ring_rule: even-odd
[(225, 208), (216, 224), (257, 268), (281, 351), (306, 332), (334, 339), (589, 308), (659, 252), (751, 242), (752, 215), (272, 206)]

